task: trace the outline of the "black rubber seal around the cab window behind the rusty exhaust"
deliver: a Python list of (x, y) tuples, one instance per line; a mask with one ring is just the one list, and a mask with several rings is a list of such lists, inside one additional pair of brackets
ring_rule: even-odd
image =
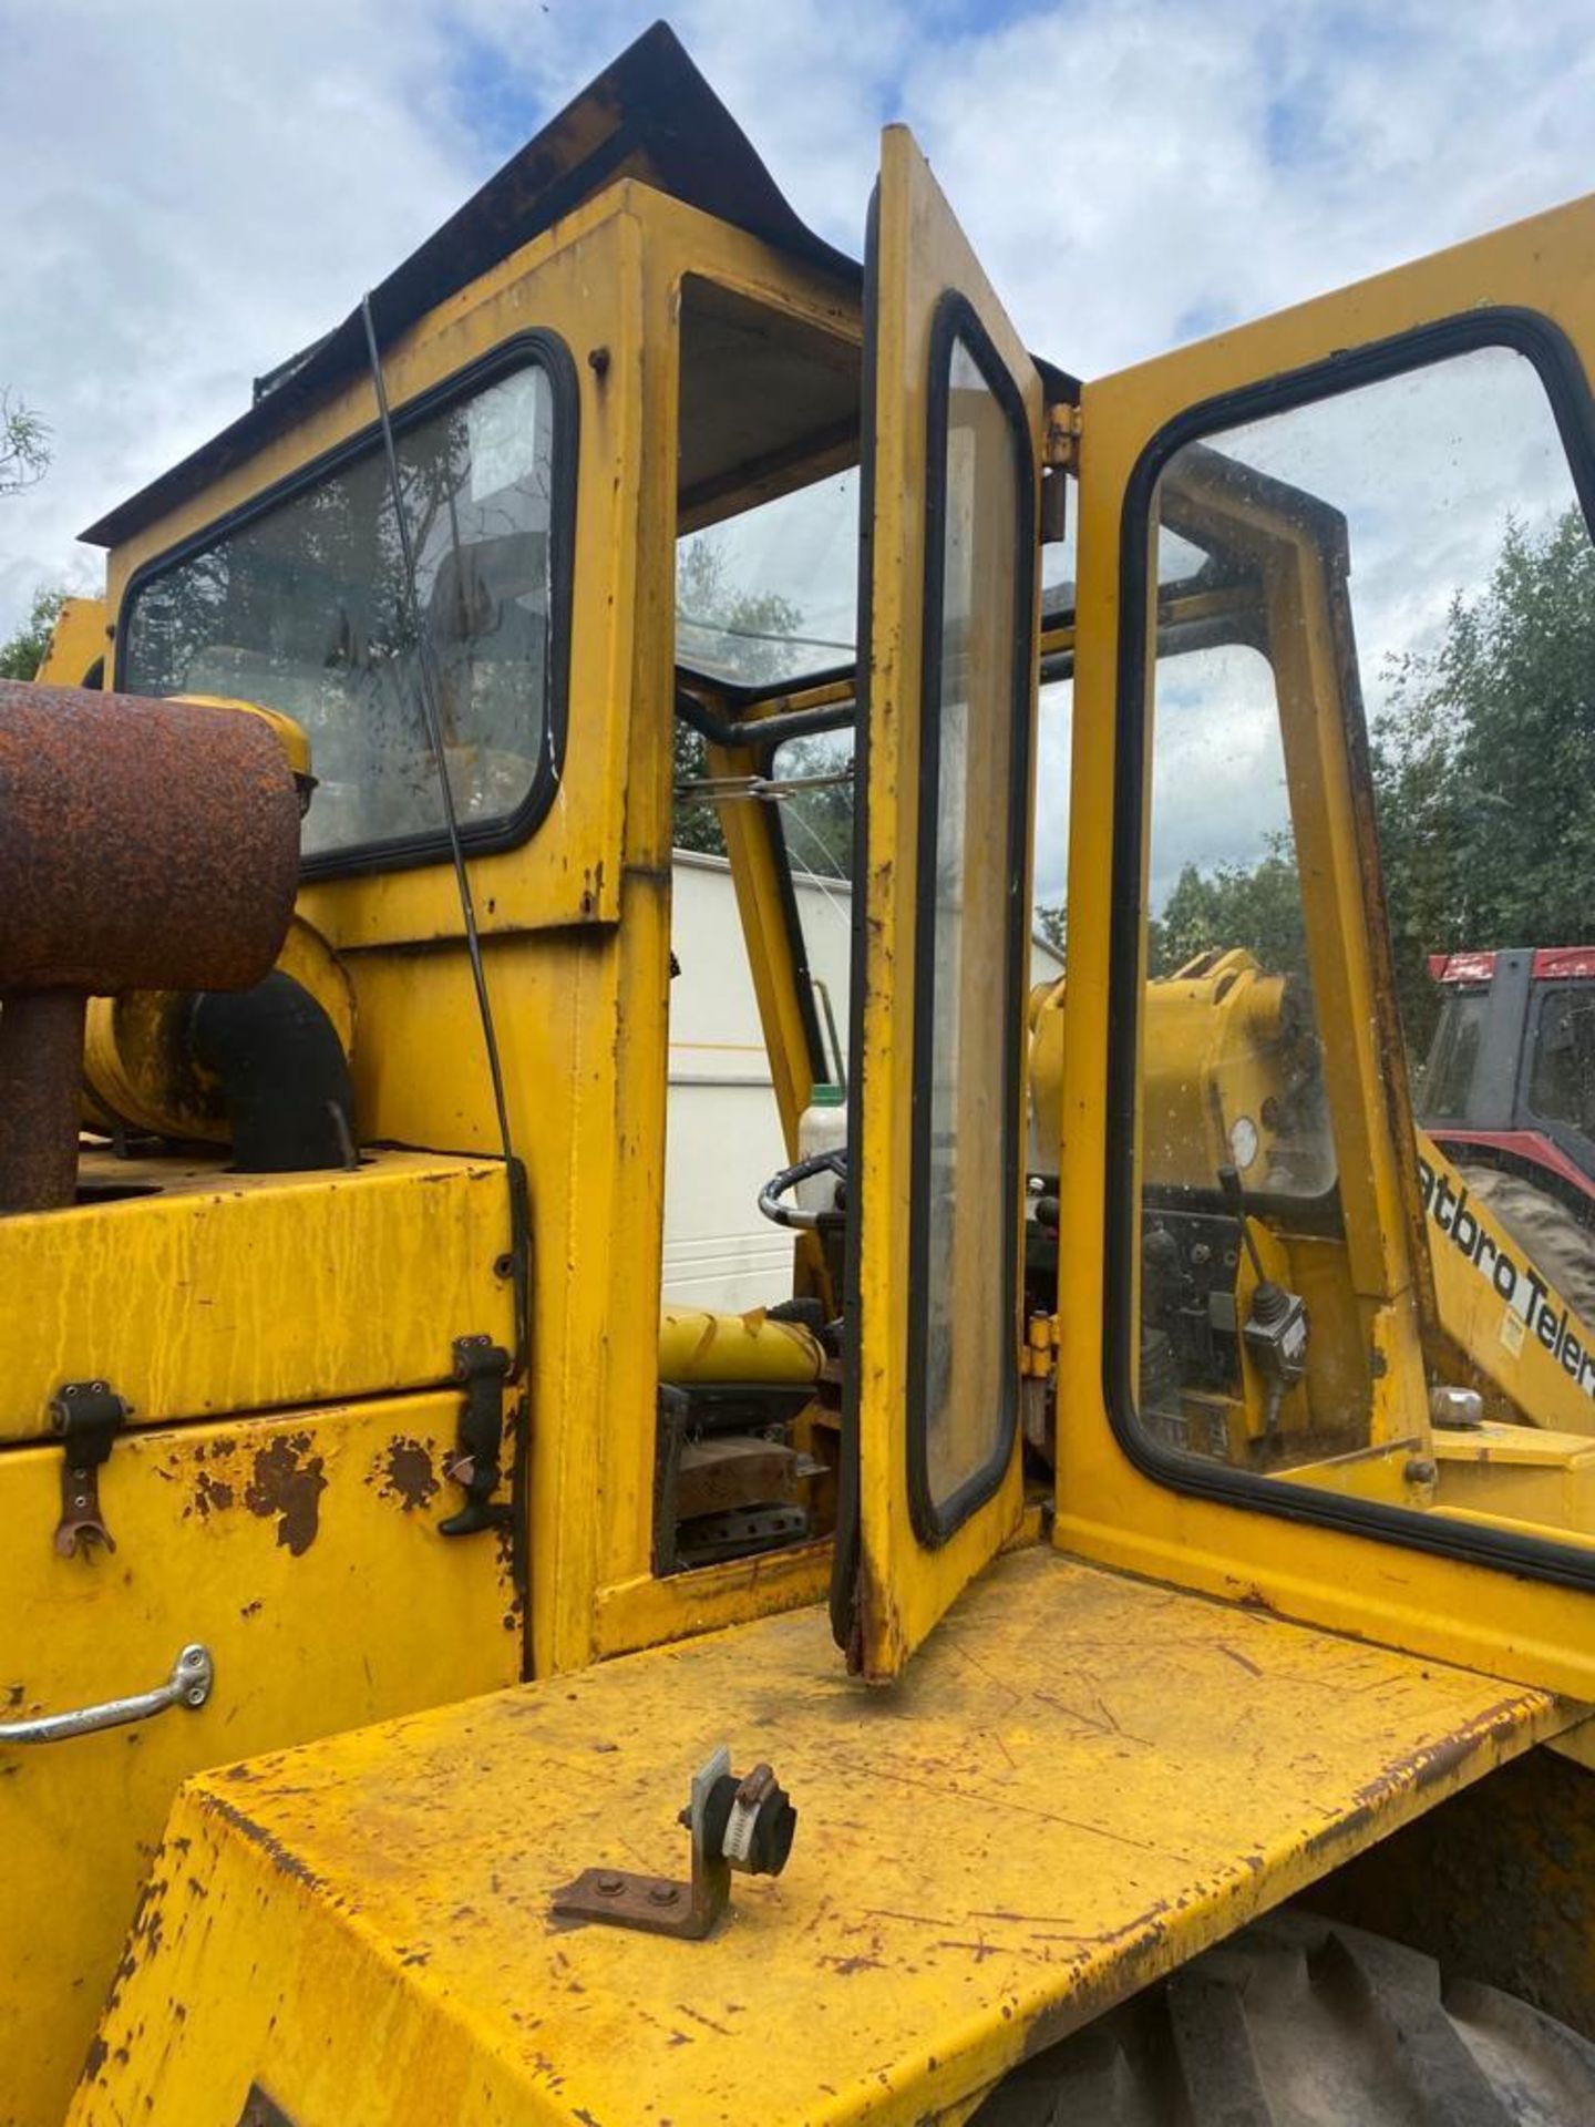
[[(538, 325), (517, 332), (489, 353), (453, 370), (440, 383), (417, 391), (393, 413), (393, 438), (419, 428), (423, 421), (451, 406), (474, 398), (485, 387), (525, 368), (540, 368), (551, 393), (551, 479), (549, 479), (549, 687), (544, 702), (542, 742), (532, 772), (532, 785), (521, 802), (496, 819), (461, 821), (459, 844), (468, 855), (489, 855), (493, 851), (517, 849), (530, 840), (547, 817), (566, 761), (566, 736), (570, 721), (570, 615), (576, 566), (576, 466), (581, 457), (581, 387), (576, 364), (557, 332)], [(142, 562), (121, 593), (115, 625), (115, 679), (117, 689), (125, 687), (125, 657), (130, 621), (138, 598), (151, 583), (181, 568), (185, 562), (211, 551), (234, 532), (270, 515), (296, 496), (308, 493), (332, 474), (345, 470), (370, 453), (381, 451), (383, 430), (379, 421), (345, 436), (342, 442), (319, 451), (304, 466), (285, 479), (264, 487), (257, 496), (240, 502), (223, 517), (213, 519), (198, 532)], [(315, 764), (313, 764), (315, 766)], [(442, 827), (417, 830), (413, 834), (389, 836), (381, 842), (351, 842), (347, 849), (317, 851), (300, 859), (304, 883), (323, 878), (359, 878), (372, 872), (417, 870), (430, 864), (449, 861), (449, 834)]]

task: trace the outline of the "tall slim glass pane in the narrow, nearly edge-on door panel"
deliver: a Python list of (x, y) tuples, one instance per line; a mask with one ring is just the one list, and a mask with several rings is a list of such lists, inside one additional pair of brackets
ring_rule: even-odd
[(972, 317), (936, 347), (910, 1244), (910, 1493), (927, 1540), (1002, 1476), (1017, 1410), (1034, 585), (1023, 413)]

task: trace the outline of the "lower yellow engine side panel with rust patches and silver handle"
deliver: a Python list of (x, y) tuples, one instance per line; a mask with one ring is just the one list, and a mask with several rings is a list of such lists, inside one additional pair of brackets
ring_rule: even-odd
[(438, 1536), (457, 1414), (432, 1393), (130, 1434), (100, 1470), (117, 1548), (70, 1559), (60, 1451), (0, 1453), (0, 1721), (147, 1691), (189, 1642), (215, 1661), (198, 1712), (0, 1740), (6, 2127), (57, 2127), (181, 1780), (519, 1676), (506, 1542)]

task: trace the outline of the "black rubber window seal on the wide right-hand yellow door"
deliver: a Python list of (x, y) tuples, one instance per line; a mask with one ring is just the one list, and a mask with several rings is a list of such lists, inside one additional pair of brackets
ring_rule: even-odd
[[(1433, 368), (1453, 355), (1508, 347), (1527, 357), (1546, 393), (1561, 438), (1574, 496), (1595, 542), (1595, 396), (1574, 342), (1538, 311), (1480, 306), (1384, 340), (1370, 340), (1327, 359), (1214, 393), (1182, 408), (1146, 442), (1123, 491), (1119, 530), (1119, 642), (1114, 696), (1112, 783), (1112, 908), (1108, 923), (1108, 1076), (1104, 1163), (1104, 1355), (1102, 1385), (1108, 1427), (1125, 1459), (1146, 1478), (1176, 1493), (1225, 1506), (1374, 1536), (1410, 1551), (1508, 1570), (1531, 1580), (1595, 1589), (1595, 1553), (1557, 1542), (1555, 1536), (1514, 1536), (1501, 1529), (1440, 1521), (1378, 1500), (1355, 1500), (1274, 1476), (1208, 1463), (1163, 1446), (1140, 1419), (1134, 1395), (1138, 1336), (1136, 1246), (1140, 1234), (1140, 1106), (1142, 942), (1146, 883), (1142, 832), (1146, 825), (1146, 753), (1151, 736), (1148, 661), (1155, 613), (1157, 483), (1170, 459), (1191, 442), (1267, 415), (1291, 413), (1316, 400), (1340, 398), (1361, 385)], [(1151, 596), (1148, 596), (1151, 593)]]

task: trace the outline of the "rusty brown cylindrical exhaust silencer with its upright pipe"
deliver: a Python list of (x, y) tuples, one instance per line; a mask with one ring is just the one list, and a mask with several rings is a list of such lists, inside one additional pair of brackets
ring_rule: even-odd
[(87, 1000), (259, 983), (298, 870), (262, 717), (0, 681), (0, 1217), (77, 1195)]

